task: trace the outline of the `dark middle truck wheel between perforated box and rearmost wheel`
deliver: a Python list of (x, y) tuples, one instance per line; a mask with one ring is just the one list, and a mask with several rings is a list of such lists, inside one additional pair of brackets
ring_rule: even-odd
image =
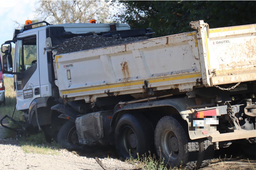
[(153, 126), (141, 115), (124, 114), (115, 128), (115, 146), (121, 158), (137, 158), (153, 147)]

